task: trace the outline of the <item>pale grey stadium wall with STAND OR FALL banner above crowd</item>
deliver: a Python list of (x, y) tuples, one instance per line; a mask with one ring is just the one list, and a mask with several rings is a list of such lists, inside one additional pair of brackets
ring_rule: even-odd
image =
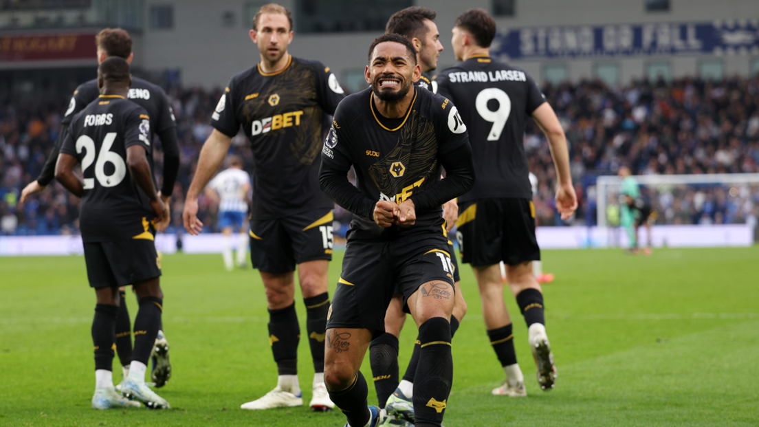
[[(258, 62), (250, 41), (250, 11), (264, 2), (248, 0), (147, 0), (173, 7), (168, 29), (146, 25), (135, 43), (135, 64), (148, 70), (178, 68), (186, 86), (224, 87), (229, 78)], [(296, 10), (295, 0), (279, 3)], [(437, 12), (445, 50), (439, 69), (455, 64), (450, 30), (468, 8), (493, 11), (492, 0), (417, 0)], [(535, 80), (578, 81), (601, 77), (677, 78), (759, 72), (759, 2), (756, 0), (670, 0), (669, 11), (647, 11), (644, 0), (515, 0), (510, 17), (496, 17), (493, 52), (524, 68)], [(357, 17), (358, 18), (358, 17)], [(294, 14), (298, 20), (298, 14)], [(360, 80), (367, 49), (378, 33), (294, 36), (290, 52), (318, 59), (343, 82)]]

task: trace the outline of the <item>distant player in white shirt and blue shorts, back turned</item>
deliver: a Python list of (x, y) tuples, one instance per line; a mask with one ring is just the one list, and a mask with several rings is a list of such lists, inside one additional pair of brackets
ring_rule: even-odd
[(219, 172), (206, 187), (206, 195), (219, 205), (219, 227), (224, 235), (222, 257), (224, 266), (231, 271), (232, 245), (229, 237), (233, 230), (238, 231), (237, 263), (245, 267), (247, 255), (247, 229), (243, 228), (245, 213), (247, 213), (247, 193), (250, 191), (250, 176), (242, 170), (242, 159), (231, 156), (228, 159), (229, 169)]

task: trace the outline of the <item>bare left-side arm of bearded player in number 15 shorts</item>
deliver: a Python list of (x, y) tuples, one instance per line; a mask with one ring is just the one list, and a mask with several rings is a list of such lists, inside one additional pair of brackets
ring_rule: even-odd
[(182, 212), (184, 229), (187, 229), (191, 235), (197, 235), (203, 231), (203, 223), (197, 219), (197, 198), (200, 191), (206, 188), (216, 169), (222, 165), (231, 142), (231, 137), (214, 129), (206, 139), (206, 143), (203, 144), (203, 149), (200, 150), (195, 176), (187, 190), (187, 198), (184, 199), (184, 212)]

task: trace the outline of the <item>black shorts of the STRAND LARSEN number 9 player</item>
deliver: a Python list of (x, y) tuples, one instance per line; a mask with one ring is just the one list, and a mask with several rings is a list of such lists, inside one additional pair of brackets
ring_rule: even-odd
[(527, 198), (486, 198), (458, 204), (461, 261), (474, 267), (540, 261), (535, 205)]

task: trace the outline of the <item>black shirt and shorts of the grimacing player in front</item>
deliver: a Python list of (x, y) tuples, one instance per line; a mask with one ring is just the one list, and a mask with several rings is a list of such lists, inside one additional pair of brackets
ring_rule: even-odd
[[(335, 112), (320, 181), (354, 216), (328, 327), (384, 331), (395, 283), (405, 299), (430, 280), (453, 284), (442, 204), (474, 182), (466, 127), (449, 100), (429, 90), (414, 93), (399, 119), (379, 114), (371, 88), (348, 96)], [(346, 178), (351, 166), (356, 187)], [(441, 166), (448, 172), (442, 180)], [(406, 199), (414, 201), (413, 226), (374, 223), (377, 201)]]

